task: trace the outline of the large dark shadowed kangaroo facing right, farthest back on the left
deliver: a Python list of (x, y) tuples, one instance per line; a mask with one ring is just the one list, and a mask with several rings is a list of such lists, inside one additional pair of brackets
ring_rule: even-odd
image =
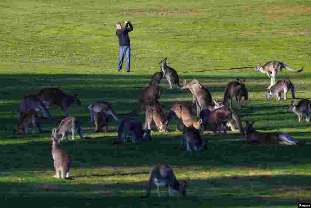
[(57, 88), (48, 87), (41, 89), (37, 95), (42, 100), (47, 109), (49, 109), (49, 107), (52, 105), (57, 105), (61, 107), (66, 117), (68, 117), (68, 107), (71, 104), (75, 103), (77, 105), (81, 105), (77, 93), (74, 93), (72, 97), (63, 93), (62, 90)]

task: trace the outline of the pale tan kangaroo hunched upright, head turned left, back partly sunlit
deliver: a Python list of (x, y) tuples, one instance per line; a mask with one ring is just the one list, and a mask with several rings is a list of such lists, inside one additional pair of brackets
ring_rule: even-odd
[(203, 87), (197, 79), (192, 80), (187, 84), (187, 81), (184, 80), (184, 85), (181, 89), (189, 89), (193, 94), (193, 105), (197, 105), (197, 116), (200, 115), (202, 109), (206, 108), (207, 105), (212, 103), (211, 93)]

